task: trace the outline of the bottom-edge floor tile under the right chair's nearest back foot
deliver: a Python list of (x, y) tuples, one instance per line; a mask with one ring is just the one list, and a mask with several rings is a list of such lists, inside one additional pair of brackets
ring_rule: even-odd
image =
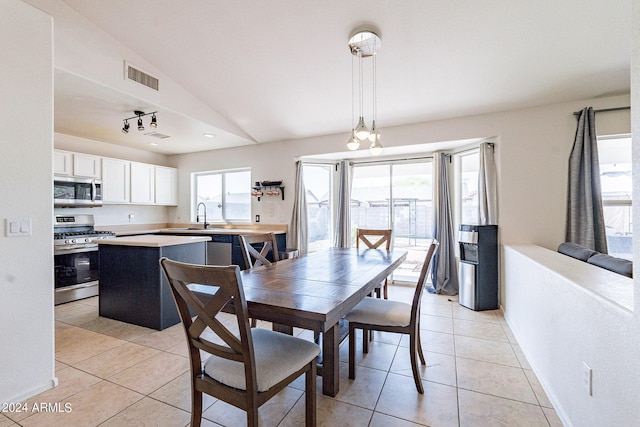
[(389, 374), (376, 412), (433, 427), (458, 426), (456, 388), (422, 381), (424, 394), (412, 377)]

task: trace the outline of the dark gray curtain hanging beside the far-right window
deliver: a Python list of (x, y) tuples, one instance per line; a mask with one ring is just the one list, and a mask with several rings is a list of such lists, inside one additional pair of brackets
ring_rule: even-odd
[(593, 108), (582, 110), (569, 157), (566, 241), (607, 253)]

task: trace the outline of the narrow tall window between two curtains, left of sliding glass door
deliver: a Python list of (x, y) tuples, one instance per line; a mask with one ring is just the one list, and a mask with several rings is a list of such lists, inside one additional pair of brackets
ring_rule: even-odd
[(333, 165), (303, 164), (302, 174), (307, 199), (308, 251), (333, 244), (332, 191)]

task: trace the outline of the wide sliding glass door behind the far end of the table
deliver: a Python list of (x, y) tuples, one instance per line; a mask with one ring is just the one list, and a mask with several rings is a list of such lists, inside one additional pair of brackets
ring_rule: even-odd
[(351, 189), (351, 236), (356, 228), (391, 228), (392, 245), (408, 251), (394, 280), (416, 282), (433, 237), (431, 159), (356, 164)]

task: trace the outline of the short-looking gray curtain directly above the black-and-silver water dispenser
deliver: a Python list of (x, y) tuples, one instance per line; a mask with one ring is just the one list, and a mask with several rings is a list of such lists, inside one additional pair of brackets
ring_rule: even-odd
[(491, 142), (480, 144), (480, 171), (478, 176), (478, 209), (480, 225), (498, 224), (498, 190), (496, 160)]

